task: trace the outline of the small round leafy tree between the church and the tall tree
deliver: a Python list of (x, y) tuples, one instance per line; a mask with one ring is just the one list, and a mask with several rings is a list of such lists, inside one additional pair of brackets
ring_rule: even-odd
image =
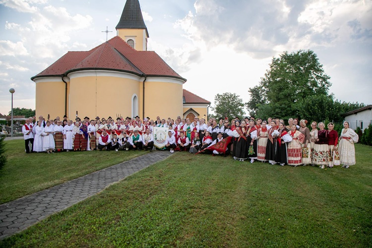
[(216, 118), (224, 118), (227, 115), (231, 120), (235, 117), (243, 117), (245, 113), (243, 99), (235, 93), (217, 94), (214, 97), (214, 105), (215, 107), (212, 107), (212, 110)]

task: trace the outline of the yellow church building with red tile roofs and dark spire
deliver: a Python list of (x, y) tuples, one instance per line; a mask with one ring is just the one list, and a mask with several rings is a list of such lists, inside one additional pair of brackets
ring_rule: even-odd
[(75, 119), (118, 115), (141, 119), (207, 118), (210, 102), (184, 90), (186, 79), (153, 51), (139, 1), (126, 0), (117, 36), (89, 50), (67, 52), (33, 76), (36, 116)]

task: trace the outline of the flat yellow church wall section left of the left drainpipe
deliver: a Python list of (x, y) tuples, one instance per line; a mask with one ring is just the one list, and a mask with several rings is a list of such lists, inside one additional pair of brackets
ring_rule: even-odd
[[(36, 78), (36, 117), (48, 114), (55, 119), (64, 115), (65, 83), (61, 77)], [(67, 82), (68, 83), (68, 82)], [(68, 107), (68, 106), (67, 106)]]

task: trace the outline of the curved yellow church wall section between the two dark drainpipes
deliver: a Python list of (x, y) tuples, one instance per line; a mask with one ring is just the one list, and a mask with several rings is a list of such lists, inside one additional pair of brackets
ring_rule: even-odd
[[(139, 98), (139, 77), (120, 72), (99, 72), (98, 76), (92, 73), (96, 72), (68, 75), (71, 75), (69, 115), (75, 116), (78, 111), (80, 118), (87, 116), (90, 119), (96, 116), (116, 118), (119, 114), (124, 118), (131, 116), (133, 94)], [(126, 76), (129, 78), (124, 78)], [(139, 110), (138, 104), (136, 108)]]

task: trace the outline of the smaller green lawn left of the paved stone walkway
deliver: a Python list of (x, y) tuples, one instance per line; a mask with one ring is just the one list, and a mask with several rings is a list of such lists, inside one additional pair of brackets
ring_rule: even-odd
[(0, 204), (147, 153), (85, 151), (26, 154), (24, 140), (8, 140), (5, 144), (7, 163), (0, 172)]

